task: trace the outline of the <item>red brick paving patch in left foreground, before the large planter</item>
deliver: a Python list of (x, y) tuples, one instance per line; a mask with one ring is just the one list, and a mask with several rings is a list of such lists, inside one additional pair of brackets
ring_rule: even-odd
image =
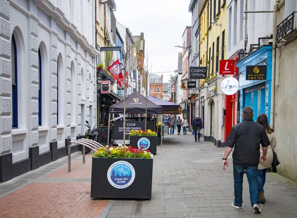
[(0, 198), (0, 218), (99, 218), (108, 201), (92, 200), (90, 186), (31, 183)]

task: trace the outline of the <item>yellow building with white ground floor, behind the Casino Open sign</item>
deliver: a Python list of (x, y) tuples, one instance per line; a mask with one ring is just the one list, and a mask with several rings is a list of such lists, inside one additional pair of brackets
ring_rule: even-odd
[(201, 135), (205, 141), (222, 147), (225, 141), (225, 101), (220, 89), (223, 77), (219, 75), (219, 62), (226, 59), (226, 0), (205, 0), (199, 19), (199, 66), (207, 67), (206, 79), (199, 81), (199, 97), (196, 99), (203, 123)]

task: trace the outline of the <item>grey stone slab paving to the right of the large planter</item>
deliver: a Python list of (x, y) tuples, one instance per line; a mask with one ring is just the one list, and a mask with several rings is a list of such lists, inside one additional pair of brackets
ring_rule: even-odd
[[(152, 198), (142, 203), (141, 218), (295, 218), (297, 184), (279, 174), (268, 173), (266, 204), (262, 214), (253, 214), (247, 178), (244, 178), (243, 208), (231, 207), (233, 194), (232, 157), (222, 170), (225, 148), (211, 142), (194, 142), (194, 136), (165, 135), (153, 163)], [(125, 202), (116, 200), (108, 218)], [(133, 202), (126, 205), (127, 217), (134, 218)]]

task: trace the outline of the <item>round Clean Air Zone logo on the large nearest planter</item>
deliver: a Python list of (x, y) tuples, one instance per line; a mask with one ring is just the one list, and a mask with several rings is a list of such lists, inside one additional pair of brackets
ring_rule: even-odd
[(135, 179), (135, 170), (130, 163), (117, 161), (109, 167), (107, 179), (115, 188), (127, 188)]

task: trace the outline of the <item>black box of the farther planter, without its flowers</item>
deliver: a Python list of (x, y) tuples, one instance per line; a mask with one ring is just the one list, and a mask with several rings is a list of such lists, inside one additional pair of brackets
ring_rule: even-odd
[(134, 148), (141, 148), (149, 150), (150, 153), (157, 153), (157, 136), (144, 136), (144, 135), (130, 135), (130, 145)]

